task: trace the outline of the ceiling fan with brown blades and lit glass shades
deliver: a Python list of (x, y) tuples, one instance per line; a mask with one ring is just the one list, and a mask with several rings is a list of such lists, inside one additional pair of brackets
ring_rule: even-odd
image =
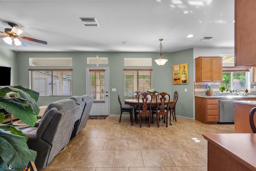
[(18, 28), (18, 25), (15, 23), (8, 22), (8, 25), (11, 26), (12, 28), (5, 28), (4, 32), (0, 31), (0, 33), (6, 34), (6, 35), (0, 35), (0, 38), (3, 38), (4, 42), (7, 44), (12, 45), (12, 43), (14, 42), (16, 46), (19, 46), (19, 45), (29, 46), (29, 44), (24, 40), (29, 40), (29, 41), (37, 42), (41, 44), (47, 44), (47, 42), (43, 40), (29, 38), (26, 36), (20, 36), (20, 34), (22, 34), (24, 31)]

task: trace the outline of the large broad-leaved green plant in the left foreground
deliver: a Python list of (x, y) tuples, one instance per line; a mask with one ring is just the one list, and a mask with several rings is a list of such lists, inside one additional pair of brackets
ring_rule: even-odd
[[(6, 93), (12, 91), (15, 92), (14, 97), (6, 97)], [(20, 85), (1, 87), (0, 107), (34, 127), (40, 111), (36, 104), (38, 97), (38, 92)], [(2, 124), (3, 121), (4, 113), (0, 113), (0, 170), (10, 165), (17, 171), (23, 171), (30, 161), (35, 161), (36, 151), (28, 149), (28, 137), (22, 131), (12, 125)]]

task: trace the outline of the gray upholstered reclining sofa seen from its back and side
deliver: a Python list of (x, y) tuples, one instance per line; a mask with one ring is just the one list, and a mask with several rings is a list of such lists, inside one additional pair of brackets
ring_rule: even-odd
[(91, 109), (93, 100), (86, 98), (87, 102), (83, 101), (83, 98), (83, 96), (76, 96), (50, 103), (35, 127), (22, 130), (28, 136), (28, 147), (37, 151), (35, 164), (38, 170), (50, 164), (58, 152), (78, 133), (80, 123), (83, 123), (81, 128), (85, 127), (84, 122), (86, 124), (87, 120), (82, 121), (81, 118), (82, 115), (90, 114), (90, 110), (86, 110), (86, 113), (84, 111), (86, 106)]

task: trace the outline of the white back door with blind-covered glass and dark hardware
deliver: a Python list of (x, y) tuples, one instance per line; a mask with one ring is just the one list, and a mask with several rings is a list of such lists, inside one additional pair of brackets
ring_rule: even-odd
[(86, 68), (86, 94), (94, 99), (90, 115), (109, 115), (108, 68)]

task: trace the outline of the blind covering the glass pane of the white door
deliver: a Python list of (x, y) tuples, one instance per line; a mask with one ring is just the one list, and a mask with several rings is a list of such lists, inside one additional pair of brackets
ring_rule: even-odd
[(105, 100), (105, 70), (89, 70), (91, 76), (91, 97), (95, 101)]

